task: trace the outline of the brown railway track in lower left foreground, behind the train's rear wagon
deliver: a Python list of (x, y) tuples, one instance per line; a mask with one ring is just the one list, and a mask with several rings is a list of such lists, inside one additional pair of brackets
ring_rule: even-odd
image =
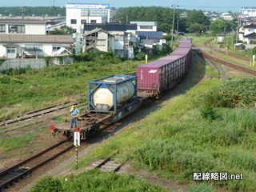
[(14, 182), (18, 182), (28, 174), (31, 174), (34, 170), (38, 169), (38, 167), (45, 165), (47, 162), (64, 154), (67, 150), (70, 150), (73, 147), (73, 142), (62, 141), (39, 154), (35, 154), (31, 158), (27, 158), (23, 162), (19, 162), (17, 165), (12, 166), (7, 170), (3, 170), (0, 173), (0, 191), (12, 186)]

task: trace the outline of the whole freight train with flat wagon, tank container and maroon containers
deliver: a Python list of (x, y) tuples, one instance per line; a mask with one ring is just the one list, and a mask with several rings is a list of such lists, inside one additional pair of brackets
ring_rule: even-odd
[(171, 54), (137, 68), (137, 76), (110, 75), (88, 82), (88, 112), (79, 115), (78, 128), (70, 128), (70, 119), (52, 122), (53, 135), (71, 138), (79, 131), (81, 139), (94, 134), (101, 126), (117, 122), (134, 113), (150, 98), (159, 98), (186, 75), (192, 60), (191, 39), (181, 39)]

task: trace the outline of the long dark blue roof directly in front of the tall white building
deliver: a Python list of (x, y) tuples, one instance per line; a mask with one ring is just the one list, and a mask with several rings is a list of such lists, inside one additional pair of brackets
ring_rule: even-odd
[(137, 30), (137, 24), (126, 24), (119, 22), (107, 22), (107, 23), (86, 23), (84, 30), (94, 30), (95, 28), (102, 28), (102, 30), (108, 31), (126, 31), (126, 30)]

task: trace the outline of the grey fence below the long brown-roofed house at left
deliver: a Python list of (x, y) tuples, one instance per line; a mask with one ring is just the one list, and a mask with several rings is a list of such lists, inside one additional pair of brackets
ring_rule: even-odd
[[(49, 66), (68, 65), (73, 63), (73, 58), (50, 58)], [(46, 65), (46, 59), (44, 58), (15, 58), (7, 59), (5, 62), (0, 63), (0, 70), (8, 70), (10, 68), (20, 69), (30, 67), (34, 70), (42, 69)]]

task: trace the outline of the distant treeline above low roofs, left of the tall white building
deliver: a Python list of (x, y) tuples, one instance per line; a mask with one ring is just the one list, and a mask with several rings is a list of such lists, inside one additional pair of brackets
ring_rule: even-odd
[(0, 14), (2, 16), (9, 16), (12, 14), (13, 16), (32, 16), (33, 14), (36, 16), (45, 16), (48, 14), (49, 16), (66, 16), (66, 7), (58, 7), (58, 6), (8, 6), (8, 7), (0, 7)]

